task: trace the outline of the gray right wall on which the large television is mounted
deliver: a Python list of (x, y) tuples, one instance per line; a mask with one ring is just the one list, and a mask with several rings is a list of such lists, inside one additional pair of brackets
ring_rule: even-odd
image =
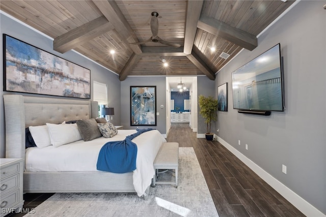
[[(228, 112), (218, 112), (219, 136), (289, 189), (326, 213), (326, 1), (301, 1), (218, 74), (228, 82)], [(284, 112), (270, 116), (232, 109), (231, 72), (281, 43)], [(217, 91), (215, 91), (217, 92)], [(238, 140), (241, 145), (238, 145)], [(248, 150), (245, 144), (249, 145)], [(287, 174), (282, 173), (282, 164)]]

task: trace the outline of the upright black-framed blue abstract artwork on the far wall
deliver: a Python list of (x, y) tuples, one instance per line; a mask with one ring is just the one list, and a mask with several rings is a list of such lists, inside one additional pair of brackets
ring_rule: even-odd
[(130, 126), (156, 126), (156, 86), (130, 86)]

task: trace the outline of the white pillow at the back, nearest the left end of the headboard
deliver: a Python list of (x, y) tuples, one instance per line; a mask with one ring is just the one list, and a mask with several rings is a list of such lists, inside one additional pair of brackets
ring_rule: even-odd
[(46, 125), (30, 126), (29, 129), (37, 147), (44, 148), (51, 145), (50, 135)]

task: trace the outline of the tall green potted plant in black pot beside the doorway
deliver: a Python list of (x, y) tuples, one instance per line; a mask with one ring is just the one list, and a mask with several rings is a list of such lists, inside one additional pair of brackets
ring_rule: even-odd
[(205, 119), (205, 123), (207, 124), (207, 133), (205, 134), (207, 140), (212, 140), (213, 135), (210, 133), (210, 127), (212, 121), (215, 121), (217, 119), (217, 113), (218, 110), (218, 100), (215, 100), (212, 97), (204, 97), (203, 95), (199, 96), (199, 113), (202, 115), (202, 117)]

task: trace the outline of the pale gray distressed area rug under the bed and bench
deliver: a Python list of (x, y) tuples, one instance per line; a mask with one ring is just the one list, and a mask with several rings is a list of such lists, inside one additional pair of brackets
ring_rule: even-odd
[[(174, 180), (168, 171), (161, 181)], [(178, 188), (156, 184), (148, 200), (135, 193), (56, 193), (24, 216), (219, 216), (192, 147), (179, 148)]]

